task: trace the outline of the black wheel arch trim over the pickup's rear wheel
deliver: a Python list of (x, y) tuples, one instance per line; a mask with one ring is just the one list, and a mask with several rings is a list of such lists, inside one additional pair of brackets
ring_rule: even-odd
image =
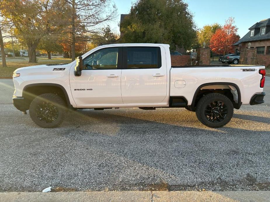
[(216, 86), (216, 85), (227, 85), (227, 86), (234, 86), (236, 88), (237, 94), (238, 94), (238, 102), (237, 103), (233, 103), (234, 108), (235, 109), (239, 109), (241, 107), (241, 91), (240, 88), (238, 87), (238, 85), (234, 84), (234, 83), (229, 83), (229, 82), (211, 82), (211, 83), (205, 83), (200, 85), (193, 96), (192, 102), (191, 102), (191, 108), (195, 109), (195, 104), (196, 104), (196, 98), (198, 96), (199, 91), (201, 90), (201, 88), (205, 87), (205, 86)]

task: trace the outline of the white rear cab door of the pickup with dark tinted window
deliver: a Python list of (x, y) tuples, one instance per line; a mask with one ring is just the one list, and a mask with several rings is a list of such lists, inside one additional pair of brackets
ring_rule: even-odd
[(123, 47), (123, 104), (161, 103), (167, 94), (166, 57), (159, 46)]

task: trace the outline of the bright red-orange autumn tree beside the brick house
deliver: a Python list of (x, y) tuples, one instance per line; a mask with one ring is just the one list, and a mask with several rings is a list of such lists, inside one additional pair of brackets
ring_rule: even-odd
[(233, 44), (239, 40), (237, 35), (238, 28), (234, 25), (234, 18), (230, 17), (226, 20), (224, 26), (218, 29), (210, 39), (212, 52), (217, 54), (233, 53)]

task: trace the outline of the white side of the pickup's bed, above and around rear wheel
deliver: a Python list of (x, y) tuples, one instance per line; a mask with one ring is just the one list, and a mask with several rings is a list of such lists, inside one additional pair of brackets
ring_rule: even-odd
[[(198, 71), (198, 68), (200, 70)], [(186, 65), (172, 66), (170, 70), (170, 96), (185, 95), (191, 105), (194, 92), (205, 86), (224, 85), (241, 89), (238, 97), (243, 104), (249, 104), (255, 93), (261, 93), (259, 69), (262, 65)], [(240, 91), (240, 90), (239, 90)]]

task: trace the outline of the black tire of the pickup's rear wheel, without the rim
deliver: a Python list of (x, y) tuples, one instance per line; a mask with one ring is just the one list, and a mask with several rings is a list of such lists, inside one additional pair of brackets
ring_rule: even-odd
[[(213, 123), (213, 122), (209, 121), (205, 115), (205, 113), (207, 111), (206, 108), (209, 106), (208, 104), (210, 104), (211, 102), (215, 102), (215, 101), (221, 101), (227, 107), (227, 114), (226, 114), (225, 118), (222, 121), (217, 122), (217, 123)], [(219, 128), (219, 127), (226, 125), (231, 120), (233, 114), (234, 114), (234, 106), (233, 106), (231, 100), (228, 97), (226, 97), (225, 95), (222, 95), (220, 93), (209, 93), (209, 94), (203, 96), (198, 101), (198, 103), (196, 105), (196, 116), (197, 116), (198, 120), (203, 125), (206, 125), (206, 126), (211, 127), (211, 128)]]

